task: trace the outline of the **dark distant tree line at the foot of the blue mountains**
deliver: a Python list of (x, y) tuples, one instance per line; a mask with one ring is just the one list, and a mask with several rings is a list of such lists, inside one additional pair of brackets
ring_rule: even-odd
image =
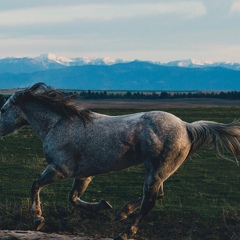
[[(68, 93), (69, 94), (69, 93)], [(81, 91), (75, 94), (84, 99), (176, 99), (176, 98), (221, 98), (229, 100), (240, 99), (240, 91), (231, 92), (107, 92)]]

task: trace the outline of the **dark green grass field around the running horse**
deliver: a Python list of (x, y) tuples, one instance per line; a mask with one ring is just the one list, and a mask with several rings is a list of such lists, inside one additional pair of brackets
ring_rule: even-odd
[[(164, 109), (185, 121), (231, 122), (240, 117), (240, 108)], [(143, 109), (98, 109), (109, 115)], [(149, 111), (147, 109), (146, 111)], [(40, 140), (29, 129), (9, 135), (0, 142), (0, 229), (33, 229), (30, 207), (32, 181), (46, 167)], [(113, 221), (126, 202), (142, 194), (144, 168), (97, 176), (83, 199), (105, 199), (113, 210), (89, 213), (68, 203), (72, 180), (45, 187), (41, 192), (43, 231), (113, 237), (130, 219)], [(136, 239), (240, 239), (240, 167), (218, 159), (213, 150), (202, 149), (164, 184), (165, 196), (142, 224)]]

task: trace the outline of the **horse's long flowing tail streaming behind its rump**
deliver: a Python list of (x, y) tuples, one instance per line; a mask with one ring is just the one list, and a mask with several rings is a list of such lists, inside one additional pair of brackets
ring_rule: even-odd
[(187, 131), (192, 142), (189, 155), (208, 145), (213, 146), (221, 158), (228, 159), (224, 150), (232, 153), (236, 161), (240, 156), (240, 120), (230, 124), (211, 121), (187, 123)]

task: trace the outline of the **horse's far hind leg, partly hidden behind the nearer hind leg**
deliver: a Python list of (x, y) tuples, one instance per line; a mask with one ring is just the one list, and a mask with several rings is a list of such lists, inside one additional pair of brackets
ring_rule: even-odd
[[(163, 197), (163, 184), (160, 186), (157, 199), (161, 199)], [(123, 208), (116, 214), (114, 221), (121, 221), (128, 217), (128, 215), (132, 214), (134, 211), (141, 207), (142, 198), (138, 198), (134, 201), (131, 201), (123, 206)]]

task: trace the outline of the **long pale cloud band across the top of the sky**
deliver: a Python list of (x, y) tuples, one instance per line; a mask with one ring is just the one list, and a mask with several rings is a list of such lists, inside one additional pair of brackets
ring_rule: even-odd
[(112, 21), (121, 18), (147, 17), (154, 15), (179, 14), (184, 18), (195, 18), (206, 14), (200, 1), (174, 1), (152, 3), (95, 3), (69, 6), (38, 6), (0, 12), (1, 26), (33, 24), (55, 24), (62, 22)]

